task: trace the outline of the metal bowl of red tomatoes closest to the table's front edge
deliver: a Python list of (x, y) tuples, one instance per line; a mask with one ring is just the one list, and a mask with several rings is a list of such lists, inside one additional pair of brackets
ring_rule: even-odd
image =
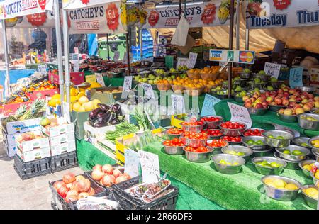
[(187, 160), (198, 163), (208, 162), (211, 160), (211, 154), (213, 152), (213, 149), (208, 149), (208, 147), (205, 146), (198, 148), (186, 146), (183, 150)]

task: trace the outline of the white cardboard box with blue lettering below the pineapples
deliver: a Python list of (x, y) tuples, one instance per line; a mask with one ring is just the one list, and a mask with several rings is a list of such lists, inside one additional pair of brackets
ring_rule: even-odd
[(26, 121), (14, 121), (9, 122), (4, 127), (6, 134), (20, 134), (27, 133), (29, 131), (40, 130), (40, 118), (30, 119)]

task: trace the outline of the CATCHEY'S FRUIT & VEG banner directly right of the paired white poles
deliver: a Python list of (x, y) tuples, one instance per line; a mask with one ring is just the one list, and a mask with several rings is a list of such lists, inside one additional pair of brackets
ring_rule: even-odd
[(67, 11), (69, 33), (126, 33), (121, 23), (121, 1)]

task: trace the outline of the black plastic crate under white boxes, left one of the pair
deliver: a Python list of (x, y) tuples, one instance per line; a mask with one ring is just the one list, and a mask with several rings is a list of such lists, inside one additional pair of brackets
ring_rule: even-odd
[(21, 179), (30, 179), (51, 173), (50, 157), (31, 162), (23, 162), (18, 155), (14, 155), (13, 167)]

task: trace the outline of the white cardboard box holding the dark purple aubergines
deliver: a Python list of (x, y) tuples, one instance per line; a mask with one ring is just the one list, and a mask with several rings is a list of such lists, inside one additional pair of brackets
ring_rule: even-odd
[(89, 122), (84, 122), (84, 140), (90, 142), (92, 145), (97, 145), (98, 140), (105, 138), (105, 133), (108, 130), (115, 130), (116, 125), (109, 125), (102, 128), (94, 128), (89, 125)]

